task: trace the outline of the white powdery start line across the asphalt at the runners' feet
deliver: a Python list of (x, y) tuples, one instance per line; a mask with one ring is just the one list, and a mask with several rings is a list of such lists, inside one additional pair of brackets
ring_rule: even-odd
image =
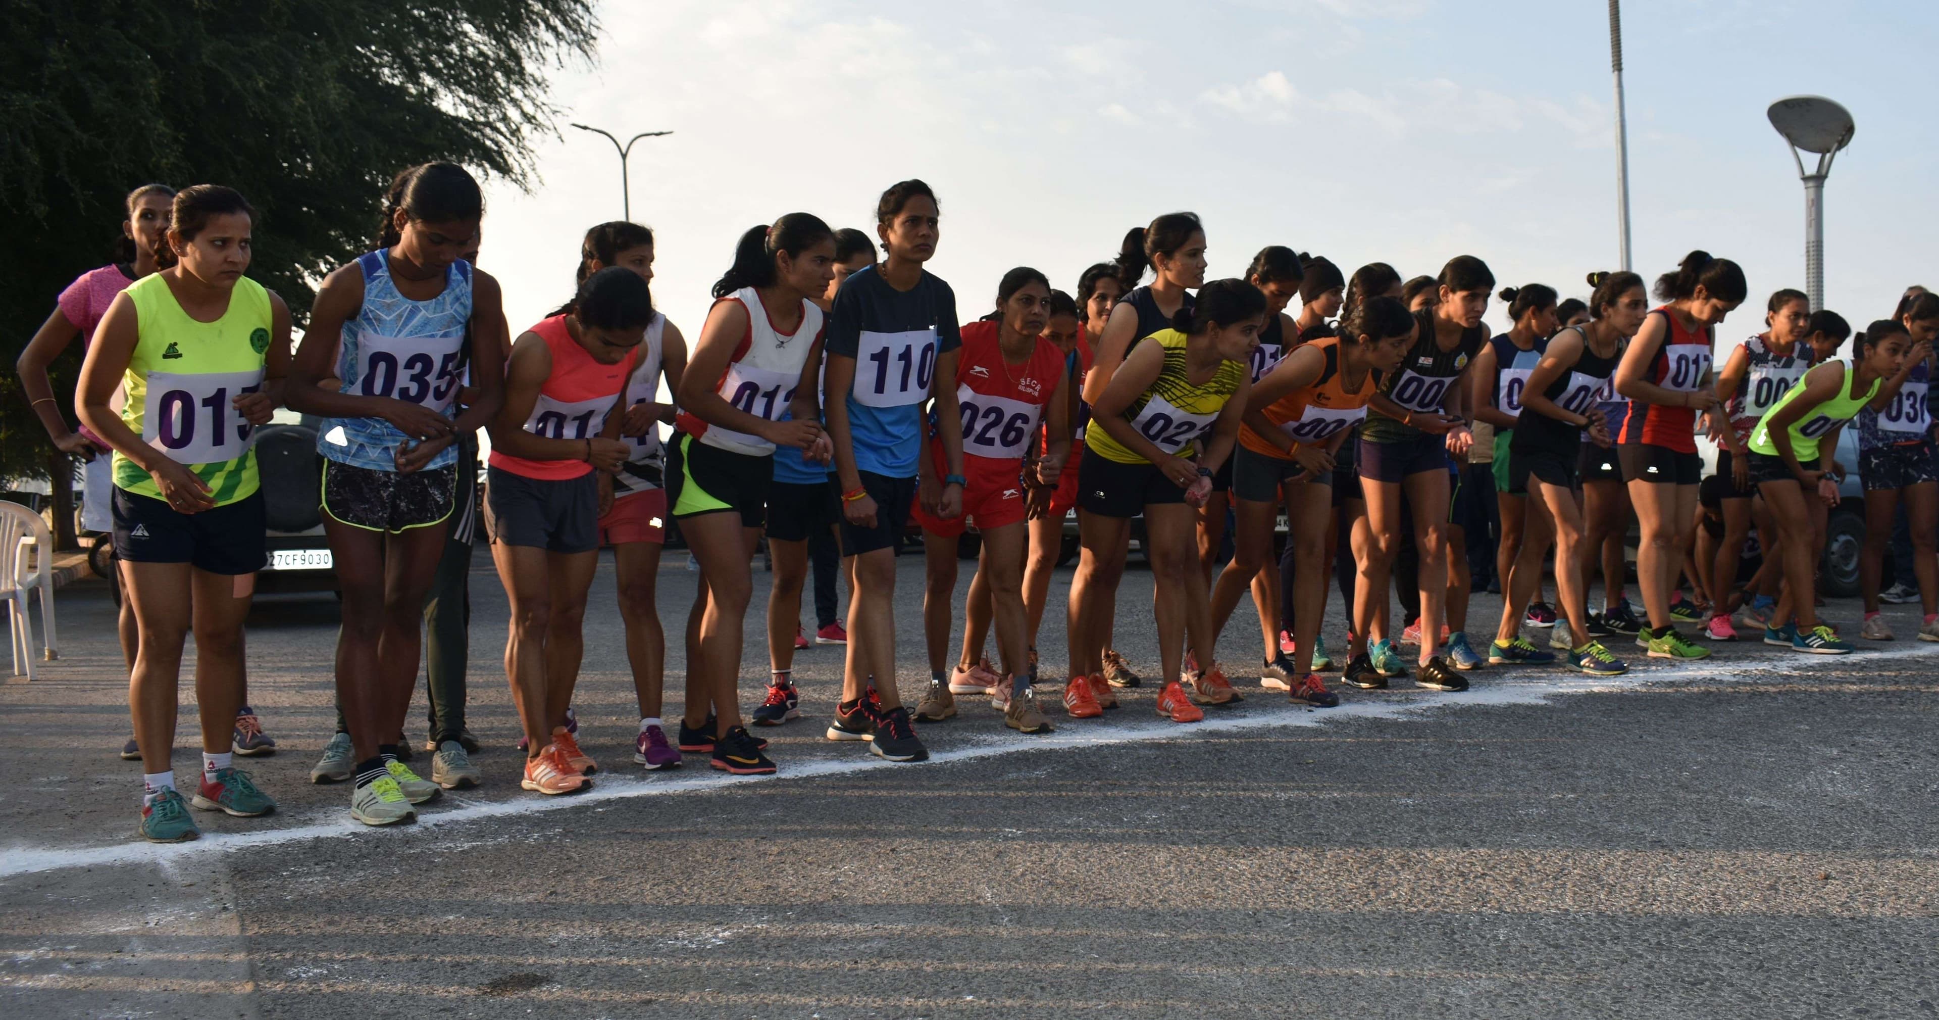
[[(1908, 657), (1922, 650), (1918, 644), (1865, 652), (1856, 657), (1840, 657), (1840, 661), (1867, 661), (1867, 659), (1896, 659)], [(1712, 661), (1712, 659), (1704, 659)], [(1828, 665), (1828, 663), (1827, 663)], [(425, 828), (458, 826), (465, 822), (479, 822), (487, 818), (502, 816), (527, 816), (545, 811), (572, 811), (578, 807), (599, 805), (607, 801), (626, 801), (634, 797), (663, 797), (675, 793), (717, 793), (727, 789), (739, 789), (745, 783), (772, 783), (772, 781), (803, 781), (816, 780), (822, 776), (851, 776), (863, 770), (874, 768), (919, 768), (923, 764), (948, 764), (966, 762), (975, 758), (995, 758), (1001, 754), (1018, 754), (1033, 750), (1065, 750), (1065, 749), (1090, 749), (1105, 747), (1132, 741), (1192, 741), (1206, 733), (1229, 733), (1235, 729), (1289, 729), (1301, 725), (1324, 725), (1340, 719), (1404, 719), (1410, 716), (1423, 716), (1427, 712), (1443, 708), (1491, 708), (1491, 706), (1516, 706), (1516, 704), (1542, 704), (1557, 694), (1596, 694), (1613, 690), (1635, 690), (1644, 685), (1664, 683), (1664, 681), (1687, 681), (1687, 679), (1710, 679), (1722, 683), (1751, 683), (1757, 679), (1766, 679), (1770, 675), (1790, 673), (1786, 667), (1772, 661), (1745, 663), (1735, 669), (1714, 669), (1704, 665), (1669, 667), (1669, 669), (1648, 669), (1633, 671), (1623, 677), (1584, 677), (1578, 673), (1555, 673), (1543, 675), (1536, 681), (1510, 679), (1509, 683), (1487, 683), (1464, 690), (1460, 694), (1437, 694), (1429, 690), (1419, 690), (1417, 696), (1410, 694), (1406, 688), (1394, 694), (1404, 694), (1406, 698), (1383, 698), (1367, 702), (1346, 702), (1338, 708), (1299, 708), (1299, 710), (1239, 710), (1233, 714), (1206, 716), (1204, 721), (1191, 725), (1175, 725), (1161, 721), (1148, 723), (1063, 723), (1057, 731), (1045, 737), (1008, 737), (1008, 739), (979, 739), (970, 747), (956, 747), (950, 750), (933, 750), (927, 762), (884, 762), (861, 750), (853, 758), (838, 760), (814, 760), (785, 766), (785, 772), (772, 776), (733, 776), (721, 778), (712, 772), (694, 772), (681, 778), (609, 778), (601, 776), (599, 783), (586, 793), (574, 793), (570, 797), (518, 797), (512, 801), (487, 801), (487, 803), (461, 803), (452, 811), (436, 811), (419, 814), (413, 826), (401, 832), (423, 832)], [(1503, 671), (1495, 677), (1514, 677), (1514, 673)], [(1270, 704), (1270, 702), (1268, 702)], [(853, 745), (861, 749), (863, 745)], [(334, 811), (328, 822), (308, 822), (295, 824), (287, 828), (270, 828), (262, 832), (235, 832), (235, 834), (206, 834), (190, 844), (114, 844), (114, 845), (95, 845), (95, 847), (14, 847), (0, 859), (0, 878), (16, 875), (33, 875), (43, 871), (62, 871), (78, 867), (118, 867), (118, 865), (180, 865), (194, 857), (221, 855), (242, 851), (250, 847), (264, 845), (283, 845), (306, 840), (347, 840), (357, 836), (382, 838), (380, 832), (372, 832), (341, 813)]]

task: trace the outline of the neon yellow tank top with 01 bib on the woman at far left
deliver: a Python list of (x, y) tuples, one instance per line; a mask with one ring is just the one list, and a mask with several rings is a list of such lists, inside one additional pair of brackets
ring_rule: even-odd
[[(270, 291), (242, 277), (215, 322), (188, 318), (161, 273), (128, 285), (140, 339), (128, 359), (122, 423), (209, 485), (217, 506), (256, 493), (256, 430), (231, 405), (262, 390)], [(161, 496), (155, 479), (114, 454), (114, 485)]]

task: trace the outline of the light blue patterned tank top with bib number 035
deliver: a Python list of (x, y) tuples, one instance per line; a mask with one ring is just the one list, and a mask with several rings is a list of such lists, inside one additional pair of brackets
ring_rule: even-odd
[[(345, 394), (394, 398), (454, 415), (461, 382), (465, 326), (471, 322), (471, 264), (454, 262), (444, 293), (411, 301), (397, 293), (386, 252), (357, 258), (365, 275), (363, 308), (343, 324), (337, 378)], [(396, 471), (405, 434), (376, 417), (324, 419), (316, 450), (339, 463)], [(425, 467), (458, 463), (458, 444)]]

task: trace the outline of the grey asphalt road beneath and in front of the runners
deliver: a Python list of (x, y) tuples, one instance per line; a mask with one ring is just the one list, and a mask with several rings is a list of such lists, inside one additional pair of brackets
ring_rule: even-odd
[[(684, 558), (661, 572), (675, 636)], [(1066, 586), (1041, 642), (1053, 704)], [(281, 750), (248, 768), (281, 809), (198, 813), (202, 842), (155, 847), (134, 840), (140, 764), (114, 756), (112, 607), (99, 582), (64, 590), (62, 659), (0, 688), (6, 1014), (1939, 1014), (1939, 646), (1739, 642), (1693, 665), (1619, 646), (1637, 669), (1613, 681), (1487, 669), (1466, 694), (1400, 683), (1320, 712), (1233, 671), (1247, 702), (1204, 723), (1156, 719), (1146, 686), (1105, 719), (1053, 712), (1049, 737), (968, 698), (923, 727), (925, 764), (822, 739), (842, 650), (816, 648), (795, 667), (807, 717), (766, 731), (779, 776), (692, 756), (648, 776), (607, 560), (576, 698), (603, 772), (541, 799), (516, 781), (483, 553), (473, 599), (481, 789), (415, 826), (351, 822), (347, 787), (306, 781), (332, 731), (335, 603), (264, 599), (250, 696)], [(919, 558), (898, 601), (915, 698)], [(1478, 597), (1472, 630), (1497, 605)], [(1856, 603), (1827, 615), (1858, 630)], [(1889, 617), (1916, 632), (1912, 611)], [(1253, 661), (1251, 619), (1241, 605), (1222, 659)], [(748, 706), (762, 642), (750, 626)], [(1136, 568), (1117, 646), (1156, 671)]]

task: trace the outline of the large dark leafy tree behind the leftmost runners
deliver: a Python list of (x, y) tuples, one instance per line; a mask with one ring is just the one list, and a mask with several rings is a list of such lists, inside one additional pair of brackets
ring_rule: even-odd
[[(258, 209), (250, 275), (299, 316), (376, 235), (403, 167), (525, 186), (547, 76), (591, 60), (591, 0), (0, 0), (0, 353), (14, 365), (122, 196), (229, 184)], [(74, 421), (78, 345), (54, 392)], [(0, 479), (66, 473), (0, 372)], [(58, 458), (58, 454), (54, 454)]]

